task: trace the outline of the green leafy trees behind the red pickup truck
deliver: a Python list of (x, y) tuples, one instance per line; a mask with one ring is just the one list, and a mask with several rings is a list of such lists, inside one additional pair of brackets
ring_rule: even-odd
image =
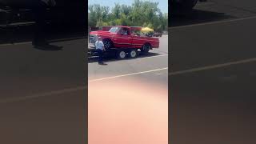
[(162, 13), (158, 2), (134, 0), (131, 6), (114, 3), (114, 7), (94, 4), (88, 6), (90, 27), (143, 26), (155, 31), (168, 30), (168, 14)]

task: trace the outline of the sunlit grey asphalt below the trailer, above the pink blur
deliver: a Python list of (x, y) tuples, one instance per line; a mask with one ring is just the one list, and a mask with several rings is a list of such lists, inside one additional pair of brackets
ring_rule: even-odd
[[(106, 65), (98, 65), (97, 58), (89, 58), (88, 64), (88, 81), (95, 81), (101, 78), (111, 78), (116, 76), (126, 77), (126, 74), (133, 74), (133, 77), (143, 77), (143, 74), (135, 73), (148, 73), (149, 70), (156, 70), (155, 73), (159, 74), (156, 78), (158, 82), (166, 84), (167, 87), (167, 67), (168, 67), (168, 35), (163, 35), (159, 38), (159, 49), (150, 50), (150, 54), (140, 54), (138, 58), (126, 58), (124, 60), (117, 60), (113, 56), (105, 58)], [(158, 70), (158, 69), (164, 69)], [(128, 75), (129, 76), (129, 75)], [(151, 76), (150, 76), (151, 77)], [(148, 79), (148, 77), (146, 77)], [(154, 77), (148, 80), (153, 80)]]

